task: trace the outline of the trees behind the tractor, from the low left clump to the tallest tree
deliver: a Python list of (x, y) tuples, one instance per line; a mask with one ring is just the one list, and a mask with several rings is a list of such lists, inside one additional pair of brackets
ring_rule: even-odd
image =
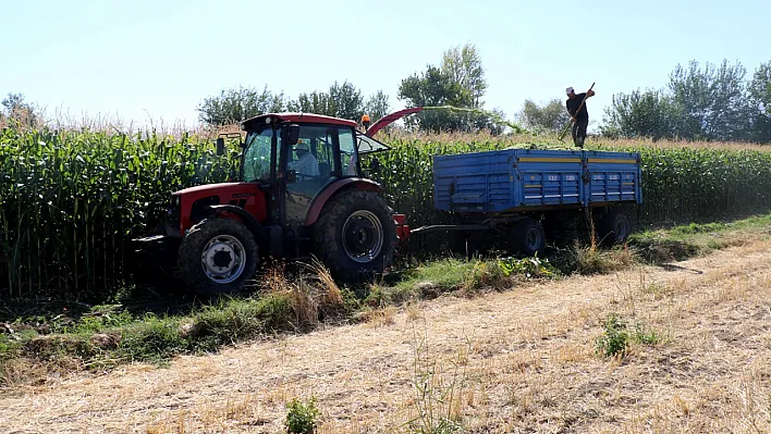
[[(455, 46), (442, 53), (438, 66), (404, 78), (399, 86), (399, 99), (408, 107), (443, 107), (464, 111), (424, 111), (405, 119), (405, 127), (413, 131), (489, 131), (503, 132), (499, 109), (484, 110), (487, 90), (485, 69), (476, 46)], [(220, 95), (205, 98), (198, 106), (199, 120), (207, 125), (224, 125), (270, 112), (304, 112), (334, 117), (360, 120), (368, 114), (376, 121), (391, 111), (389, 97), (382, 91), (365, 97), (352, 83), (334, 82), (326, 91), (314, 90), (292, 99), (284, 92), (264, 87), (225, 89)]]

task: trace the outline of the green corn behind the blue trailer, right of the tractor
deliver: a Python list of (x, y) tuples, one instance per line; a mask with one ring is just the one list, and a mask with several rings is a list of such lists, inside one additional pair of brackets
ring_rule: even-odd
[[(527, 146), (493, 139), (451, 142), (400, 138), (388, 144), (392, 150), (377, 156), (383, 168), (379, 181), (394, 208), (408, 215), (413, 227), (446, 221), (445, 215), (433, 211), (432, 156)], [(613, 145), (591, 149), (640, 152), (642, 223), (713, 221), (771, 210), (771, 152)]]

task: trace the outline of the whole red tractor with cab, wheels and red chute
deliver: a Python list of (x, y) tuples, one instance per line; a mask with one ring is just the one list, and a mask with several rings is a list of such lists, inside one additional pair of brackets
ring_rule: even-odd
[(198, 294), (240, 290), (268, 257), (314, 255), (343, 281), (381, 273), (409, 228), (379, 196), (382, 187), (362, 175), (359, 157), (389, 149), (372, 135), (415, 111), (386, 116), (366, 133), (354, 121), (316, 114), (244, 121), (240, 181), (173, 193), (164, 228), (135, 239), (136, 251), (174, 268)]

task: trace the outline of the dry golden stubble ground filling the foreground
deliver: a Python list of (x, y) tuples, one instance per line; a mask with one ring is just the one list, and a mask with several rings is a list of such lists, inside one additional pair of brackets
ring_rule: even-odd
[[(454, 392), (430, 407), (467, 432), (768, 432), (771, 243), (676, 265), (443, 297), (166, 369), (3, 390), (0, 432), (274, 433), (284, 402), (310, 394), (320, 432), (400, 432), (429, 404), (420, 377)], [(610, 312), (669, 342), (602, 359)]]

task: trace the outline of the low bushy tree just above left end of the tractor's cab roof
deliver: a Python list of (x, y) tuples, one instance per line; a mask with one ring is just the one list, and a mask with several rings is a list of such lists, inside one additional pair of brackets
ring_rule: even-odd
[(198, 106), (198, 119), (208, 125), (241, 122), (262, 113), (281, 112), (285, 108), (284, 94), (272, 94), (266, 86), (262, 91), (253, 88), (222, 90)]

